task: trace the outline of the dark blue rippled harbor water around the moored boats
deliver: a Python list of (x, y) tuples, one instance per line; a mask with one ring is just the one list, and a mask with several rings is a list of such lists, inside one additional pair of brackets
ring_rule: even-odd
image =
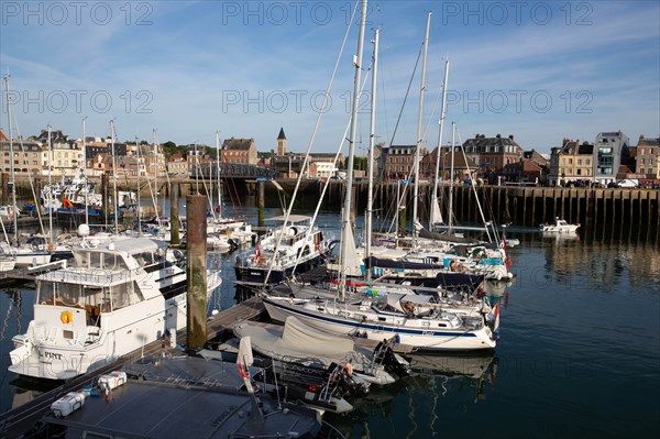
[[(255, 223), (256, 211), (245, 208)], [(280, 211), (266, 211), (270, 215)], [(320, 228), (338, 231), (338, 215)], [(360, 223), (360, 221), (359, 221)], [(351, 438), (622, 438), (660, 433), (658, 230), (576, 235), (507, 232), (515, 279), (501, 296), (501, 339), (481, 356), (415, 355), (417, 372), (326, 415)], [(235, 303), (235, 253), (209, 256), (223, 285), (209, 312)], [(7, 371), (11, 337), (32, 318), (30, 286), (0, 292), (0, 410), (43, 392)]]

